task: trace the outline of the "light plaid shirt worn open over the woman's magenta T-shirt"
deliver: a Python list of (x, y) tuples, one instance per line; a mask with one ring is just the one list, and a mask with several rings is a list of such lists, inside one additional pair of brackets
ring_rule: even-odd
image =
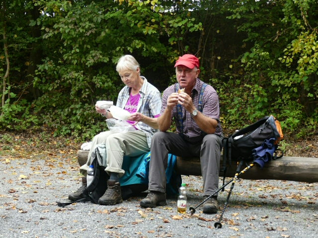
[[(144, 80), (144, 84), (139, 91), (140, 99), (138, 101), (137, 112), (150, 118), (155, 118), (155, 116), (158, 117), (160, 115), (161, 108), (161, 94), (155, 86), (148, 83), (145, 77), (141, 77)], [(128, 99), (129, 87), (126, 85), (118, 94), (116, 106), (124, 109)], [(146, 133), (148, 146), (150, 148), (151, 137), (158, 130), (141, 121), (138, 122), (135, 127)]]

